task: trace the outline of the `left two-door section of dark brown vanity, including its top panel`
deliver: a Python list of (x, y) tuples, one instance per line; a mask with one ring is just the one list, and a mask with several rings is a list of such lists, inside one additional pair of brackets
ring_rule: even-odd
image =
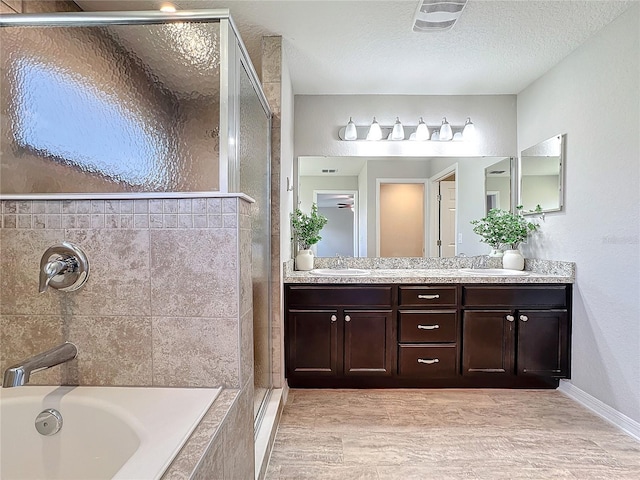
[(391, 286), (288, 285), (289, 384), (319, 377), (392, 375), (392, 294)]

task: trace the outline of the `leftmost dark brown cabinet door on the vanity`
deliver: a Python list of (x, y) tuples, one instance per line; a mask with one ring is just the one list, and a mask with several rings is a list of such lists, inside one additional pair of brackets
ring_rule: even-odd
[(289, 310), (287, 372), (332, 376), (338, 372), (338, 311)]

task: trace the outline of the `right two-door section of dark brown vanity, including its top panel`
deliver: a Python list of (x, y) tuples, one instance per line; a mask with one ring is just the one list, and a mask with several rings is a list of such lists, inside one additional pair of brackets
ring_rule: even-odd
[(462, 374), (569, 377), (566, 285), (464, 286)]

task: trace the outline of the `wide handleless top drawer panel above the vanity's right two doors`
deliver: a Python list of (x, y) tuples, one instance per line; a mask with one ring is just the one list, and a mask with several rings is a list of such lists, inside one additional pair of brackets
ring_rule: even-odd
[(465, 307), (567, 308), (566, 285), (486, 285), (462, 287)]

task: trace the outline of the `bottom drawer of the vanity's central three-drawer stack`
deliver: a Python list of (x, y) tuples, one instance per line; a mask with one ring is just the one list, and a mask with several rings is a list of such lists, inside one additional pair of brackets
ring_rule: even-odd
[(401, 377), (455, 377), (457, 352), (455, 345), (400, 345), (398, 374)]

